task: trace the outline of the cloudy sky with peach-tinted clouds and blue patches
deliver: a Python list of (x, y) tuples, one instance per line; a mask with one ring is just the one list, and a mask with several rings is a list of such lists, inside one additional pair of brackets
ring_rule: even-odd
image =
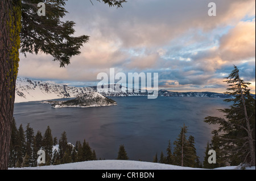
[[(92, 2), (66, 6), (75, 35), (90, 36), (80, 56), (66, 68), (42, 53), (21, 56), (19, 77), (91, 86), (115, 68), (159, 73), (160, 89), (224, 92), (236, 65), (255, 93), (255, 0), (127, 0), (120, 9)], [(209, 2), (216, 16), (208, 16)]]

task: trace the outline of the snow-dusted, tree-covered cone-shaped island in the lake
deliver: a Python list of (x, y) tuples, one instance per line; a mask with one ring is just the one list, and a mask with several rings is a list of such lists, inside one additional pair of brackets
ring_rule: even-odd
[(112, 99), (106, 98), (98, 92), (84, 93), (84, 95), (76, 99), (67, 101), (51, 101), (43, 102), (51, 103), (53, 108), (61, 107), (101, 107), (101, 106), (116, 106), (117, 102)]

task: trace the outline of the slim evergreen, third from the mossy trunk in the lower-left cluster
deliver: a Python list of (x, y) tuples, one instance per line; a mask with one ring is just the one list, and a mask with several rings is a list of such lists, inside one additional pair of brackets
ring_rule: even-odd
[(26, 127), (26, 154), (27, 154), (27, 158), (26, 158), (26, 167), (31, 167), (34, 166), (33, 163), (33, 150), (34, 150), (34, 131), (33, 129), (30, 127), (30, 124), (27, 124)]

